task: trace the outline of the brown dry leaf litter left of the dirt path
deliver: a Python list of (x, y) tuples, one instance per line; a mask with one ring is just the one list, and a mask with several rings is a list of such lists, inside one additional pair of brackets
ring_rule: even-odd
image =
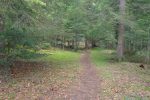
[[(78, 65), (18, 64), (10, 82), (0, 84), (0, 100), (36, 100), (65, 97), (67, 89), (76, 80)], [(53, 66), (53, 67), (51, 67)], [(61, 65), (62, 67), (63, 65)], [(66, 67), (74, 66), (74, 67)]]

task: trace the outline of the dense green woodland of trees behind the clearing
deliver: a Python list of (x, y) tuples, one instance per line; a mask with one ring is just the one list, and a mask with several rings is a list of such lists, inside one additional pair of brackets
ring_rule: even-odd
[(149, 0), (1, 0), (1, 56), (29, 49), (117, 48), (119, 60), (150, 61)]

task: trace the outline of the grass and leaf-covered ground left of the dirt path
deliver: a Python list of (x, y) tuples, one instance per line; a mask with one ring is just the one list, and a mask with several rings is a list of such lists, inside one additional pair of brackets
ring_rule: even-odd
[(79, 53), (41, 50), (42, 56), (18, 62), (9, 82), (0, 84), (0, 100), (59, 99), (74, 83), (79, 67)]

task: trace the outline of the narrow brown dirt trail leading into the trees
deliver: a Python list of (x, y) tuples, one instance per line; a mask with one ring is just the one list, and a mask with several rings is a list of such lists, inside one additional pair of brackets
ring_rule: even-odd
[(81, 55), (81, 65), (83, 70), (79, 81), (73, 86), (69, 100), (99, 100), (100, 80), (96, 69), (91, 64), (90, 52), (87, 51)]

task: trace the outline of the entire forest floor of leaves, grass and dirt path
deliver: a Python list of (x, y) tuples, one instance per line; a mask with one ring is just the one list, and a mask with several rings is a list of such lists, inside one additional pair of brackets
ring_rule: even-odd
[(148, 65), (115, 62), (113, 52), (39, 51), (16, 62), (10, 80), (0, 74), (0, 100), (149, 100)]

